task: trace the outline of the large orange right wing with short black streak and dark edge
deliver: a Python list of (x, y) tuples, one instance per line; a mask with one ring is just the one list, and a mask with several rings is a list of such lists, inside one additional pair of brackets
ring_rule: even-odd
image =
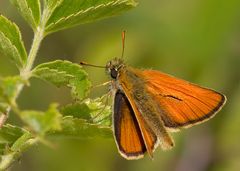
[(212, 118), (226, 97), (214, 90), (154, 70), (142, 71), (146, 89), (154, 98), (168, 128), (190, 127)]

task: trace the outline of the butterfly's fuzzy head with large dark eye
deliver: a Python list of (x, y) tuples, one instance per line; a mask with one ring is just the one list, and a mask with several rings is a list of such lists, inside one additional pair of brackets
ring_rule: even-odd
[(106, 65), (106, 70), (113, 79), (117, 79), (119, 71), (124, 67), (124, 62), (120, 58), (114, 58)]

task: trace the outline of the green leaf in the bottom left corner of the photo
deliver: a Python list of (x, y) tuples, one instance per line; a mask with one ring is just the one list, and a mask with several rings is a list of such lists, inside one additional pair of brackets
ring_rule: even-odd
[(19, 127), (4, 125), (0, 129), (0, 170), (6, 170), (37, 139)]

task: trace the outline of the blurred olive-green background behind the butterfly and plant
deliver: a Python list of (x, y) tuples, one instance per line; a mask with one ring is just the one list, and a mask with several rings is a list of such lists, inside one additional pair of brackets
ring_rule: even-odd
[[(16, 22), (27, 49), (33, 33), (8, 1), (0, 13)], [(152, 161), (120, 157), (113, 138), (54, 139), (56, 149), (37, 145), (10, 170), (25, 171), (238, 171), (240, 170), (240, 1), (149, 0), (121, 16), (81, 25), (48, 36), (35, 64), (55, 59), (105, 65), (121, 55), (121, 31), (126, 30), (126, 61), (134, 67), (153, 68), (224, 93), (227, 104), (212, 120), (173, 133), (176, 147), (160, 148)], [(17, 73), (0, 56), (2, 76)], [(87, 68), (93, 84), (108, 77), (104, 70)], [(106, 93), (94, 90), (91, 97)], [(32, 79), (18, 103), (22, 109), (44, 110), (50, 102), (71, 102), (68, 89), (57, 89)], [(9, 122), (18, 122), (11, 114)]]

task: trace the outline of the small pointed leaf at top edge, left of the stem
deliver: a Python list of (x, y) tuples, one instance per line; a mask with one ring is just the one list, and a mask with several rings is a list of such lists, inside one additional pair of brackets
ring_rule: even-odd
[(11, 0), (28, 24), (36, 30), (41, 17), (39, 0)]

